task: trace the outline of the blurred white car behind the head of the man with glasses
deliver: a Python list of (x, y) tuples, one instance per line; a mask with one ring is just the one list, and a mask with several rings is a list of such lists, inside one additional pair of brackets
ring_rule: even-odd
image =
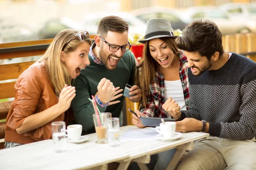
[(105, 11), (105, 12), (94, 12), (94, 13), (88, 13), (86, 14), (86, 17), (82, 21), (83, 29), (88, 31), (89, 34), (96, 34), (99, 21), (106, 16), (118, 16), (124, 19), (128, 25), (129, 25), (129, 34), (131, 33), (141, 33), (146, 31), (146, 24), (134, 17), (133, 15), (126, 13), (126, 12), (111, 12), (111, 11)]

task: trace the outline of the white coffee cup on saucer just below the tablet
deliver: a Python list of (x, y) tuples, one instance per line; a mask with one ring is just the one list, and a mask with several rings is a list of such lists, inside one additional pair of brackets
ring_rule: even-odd
[(160, 123), (160, 126), (156, 127), (156, 131), (165, 138), (171, 138), (174, 136), (175, 128), (176, 122), (164, 122), (164, 124)]

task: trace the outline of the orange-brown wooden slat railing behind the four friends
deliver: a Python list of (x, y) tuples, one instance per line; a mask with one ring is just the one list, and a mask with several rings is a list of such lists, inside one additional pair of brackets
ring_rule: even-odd
[[(94, 39), (95, 35), (90, 38)], [(45, 50), (53, 39), (35, 40), (27, 42), (13, 42), (0, 44), (0, 59), (13, 59), (19, 57), (30, 57), (44, 54)], [(245, 55), (256, 62), (256, 33), (235, 34), (223, 36), (223, 46), (225, 51), (236, 52)], [(8, 99), (15, 96), (14, 85), (18, 76), (26, 70), (34, 61), (20, 62), (14, 64), (0, 65), (0, 99)], [(0, 102), (0, 121), (6, 119), (11, 107), (12, 101)], [(125, 99), (126, 108), (137, 109), (138, 103), (130, 102)], [(126, 115), (127, 125), (132, 125), (132, 116), (130, 113)], [(0, 139), (4, 138), (6, 122), (0, 122)], [(3, 142), (0, 142), (0, 148), (3, 148)]]

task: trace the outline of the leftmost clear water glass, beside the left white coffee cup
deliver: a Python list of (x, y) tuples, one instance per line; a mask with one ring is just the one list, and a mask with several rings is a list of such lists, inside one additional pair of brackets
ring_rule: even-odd
[(66, 124), (63, 121), (52, 122), (52, 140), (55, 152), (66, 150)]

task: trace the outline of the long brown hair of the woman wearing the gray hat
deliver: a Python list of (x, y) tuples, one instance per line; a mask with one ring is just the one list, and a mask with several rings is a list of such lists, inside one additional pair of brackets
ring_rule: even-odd
[[(177, 54), (178, 48), (174, 38), (161, 37), (160, 40), (165, 42), (174, 54)], [(155, 77), (155, 71), (157, 71), (157, 68), (159, 66), (158, 62), (150, 54), (148, 47), (149, 41), (150, 40), (145, 41), (142, 61), (135, 70), (135, 84), (139, 85), (140, 89), (142, 90), (142, 101), (144, 106), (146, 106), (148, 102), (146, 96), (149, 95), (150, 84), (153, 82)]]

